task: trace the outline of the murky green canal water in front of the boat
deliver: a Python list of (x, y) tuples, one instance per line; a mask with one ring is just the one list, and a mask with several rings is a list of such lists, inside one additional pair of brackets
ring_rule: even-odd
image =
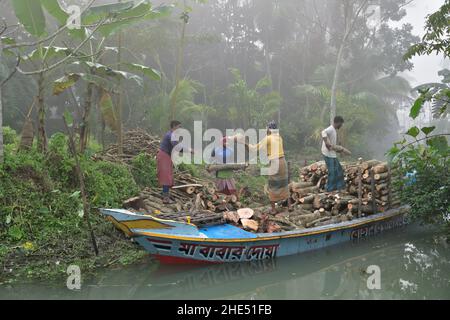
[(34, 298), (450, 299), (450, 244), (436, 231), (409, 226), (274, 261), (187, 268), (148, 258), (83, 279), (79, 291), (65, 283), (0, 287), (0, 299)]

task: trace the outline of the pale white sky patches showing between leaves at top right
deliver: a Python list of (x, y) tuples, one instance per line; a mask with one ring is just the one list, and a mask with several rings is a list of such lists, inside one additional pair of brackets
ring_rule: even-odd
[[(424, 34), (425, 18), (427, 15), (437, 11), (444, 0), (415, 0), (407, 7), (408, 15), (402, 23), (411, 23), (414, 26), (414, 33), (419, 36)], [(444, 67), (450, 68), (450, 61), (444, 61), (440, 56), (424, 56), (414, 58), (414, 70), (404, 74), (413, 86), (437, 82), (440, 77), (437, 72)]]

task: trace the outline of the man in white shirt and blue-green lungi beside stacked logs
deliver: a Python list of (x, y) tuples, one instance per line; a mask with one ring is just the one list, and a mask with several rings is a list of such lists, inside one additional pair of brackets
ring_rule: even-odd
[(322, 131), (322, 154), (328, 169), (327, 192), (340, 191), (345, 188), (344, 170), (337, 159), (337, 153), (350, 152), (337, 146), (337, 130), (344, 125), (344, 119), (340, 116), (334, 118), (333, 124)]

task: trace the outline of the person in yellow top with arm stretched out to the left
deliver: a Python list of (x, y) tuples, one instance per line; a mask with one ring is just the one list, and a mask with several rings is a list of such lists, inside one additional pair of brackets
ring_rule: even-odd
[[(238, 140), (239, 142), (239, 140)], [(289, 211), (291, 211), (292, 203), (289, 193), (289, 172), (284, 156), (283, 139), (278, 130), (275, 121), (269, 122), (267, 125), (267, 136), (258, 144), (251, 145), (245, 143), (249, 149), (260, 151), (265, 150), (269, 163), (269, 181), (267, 191), (269, 193), (272, 214), (276, 214), (276, 203), (288, 201)], [(275, 171), (272, 168), (277, 168)]]

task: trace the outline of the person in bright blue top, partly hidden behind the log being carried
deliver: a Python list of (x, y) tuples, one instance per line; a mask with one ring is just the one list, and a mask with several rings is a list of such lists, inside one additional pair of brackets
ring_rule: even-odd
[[(213, 163), (230, 164), (234, 162), (233, 150), (227, 147), (227, 142), (231, 138), (223, 137), (222, 145), (215, 148), (211, 153)], [(234, 141), (235, 139), (233, 139)], [(216, 187), (219, 193), (226, 195), (236, 194), (236, 182), (233, 179), (233, 169), (223, 169), (216, 171)]]

